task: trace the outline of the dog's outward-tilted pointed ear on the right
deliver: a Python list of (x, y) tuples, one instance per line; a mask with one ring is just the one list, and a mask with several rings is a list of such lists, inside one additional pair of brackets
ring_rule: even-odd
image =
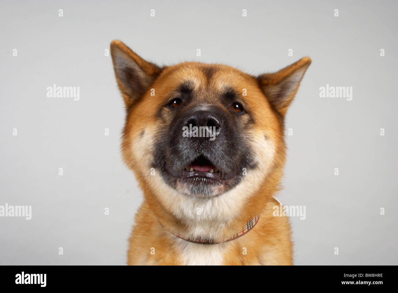
[(257, 77), (261, 90), (282, 116), (285, 116), (310, 64), (311, 59), (304, 57), (275, 73), (265, 73)]

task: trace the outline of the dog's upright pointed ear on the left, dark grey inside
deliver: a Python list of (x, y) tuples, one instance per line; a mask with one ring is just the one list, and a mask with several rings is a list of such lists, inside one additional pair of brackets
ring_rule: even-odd
[(111, 56), (117, 85), (128, 109), (145, 93), (162, 69), (142, 59), (119, 40), (111, 42)]

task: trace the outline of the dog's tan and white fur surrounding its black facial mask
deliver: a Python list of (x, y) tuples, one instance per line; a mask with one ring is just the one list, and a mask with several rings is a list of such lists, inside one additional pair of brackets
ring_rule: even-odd
[[(256, 79), (219, 64), (185, 62), (160, 69), (117, 40), (111, 43), (115, 71), (115, 56), (121, 52), (139, 64), (142, 74), (153, 81), (142, 97), (132, 99), (116, 74), (128, 109), (123, 160), (135, 173), (144, 193), (129, 239), (127, 264), (293, 264), (289, 219), (273, 216), (273, 206), (279, 206), (273, 196), (280, 189), (285, 164), (283, 118), (310, 65), (310, 58), (302, 58), (277, 73)], [(214, 72), (210, 80), (203, 73), (204, 68)], [(248, 170), (248, 175), (232, 190), (207, 200), (186, 197), (164, 183), (158, 173), (150, 174), (155, 131), (168, 123), (159, 120), (156, 111), (167, 102), (166, 97), (178, 83), (185, 80), (193, 81), (195, 89), (203, 93), (200, 101), (204, 107), (214, 103), (211, 94), (226, 85), (239, 91), (247, 89), (244, 99), (256, 121), (247, 132), (253, 141), (258, 170)], [(150, 89), (155, 89), (155, 96), (150, 95)], [(278, 100), (281, 91), (287, 94)], [(198, 208), (200, 214), (195, 213)], [(251, 231), (227, 243), (190, 243), (169, 232), (176, 231), (187, 238), (202, 236), (221, 240), (236, 233), (256, 215), (260, 218)], [(245, 250), (247, 254), (242, 253)]]

